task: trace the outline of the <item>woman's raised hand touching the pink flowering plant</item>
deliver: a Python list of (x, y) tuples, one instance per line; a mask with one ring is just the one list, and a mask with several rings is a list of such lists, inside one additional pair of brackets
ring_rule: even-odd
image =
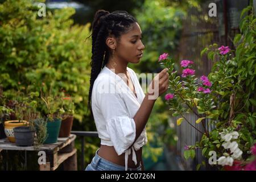
[(154, 77), (148, 86), (149, 99), (156, 100), (166, 90), (168, 90), (169, 74), (168, 69), (164, 68), (158, 75)]

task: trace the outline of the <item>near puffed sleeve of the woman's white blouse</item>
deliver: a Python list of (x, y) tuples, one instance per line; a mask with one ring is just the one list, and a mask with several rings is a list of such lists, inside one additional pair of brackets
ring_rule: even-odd
[[(120, 85), (113, 81), (102, 81), (98, 89), (97, 105), (106, 121), (106, 130), (118, 155), (123, 154), (136, 135), (134, 119), (130, 117), (126, 104), (122, 99)], [(102, 91), (104, 90), (104, 91)]]

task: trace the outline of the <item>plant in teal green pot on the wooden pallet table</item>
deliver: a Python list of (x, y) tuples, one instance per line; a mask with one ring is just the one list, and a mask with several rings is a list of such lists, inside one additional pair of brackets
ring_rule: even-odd
[(40, 98), (42, 111), (47, 117), (47, 139), (44, 141), (44, 143), (56, 143), (60, 131), (61, 114), (64, 113), (63, 109), (61, 108), (61, 97), (52, 94), (51, 91), (44, 94), (41, 89)]

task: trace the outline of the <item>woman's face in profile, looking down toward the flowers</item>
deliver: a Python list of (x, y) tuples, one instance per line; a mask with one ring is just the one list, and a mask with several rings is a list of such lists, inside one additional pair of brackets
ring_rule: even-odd
[(138, 23), (134, 23), (131, 27), (129, 32), (122, 34), (119, 38), (114, 53), (121, 61), (138, 63), (145, 48), (141, 40), (142, 31)]

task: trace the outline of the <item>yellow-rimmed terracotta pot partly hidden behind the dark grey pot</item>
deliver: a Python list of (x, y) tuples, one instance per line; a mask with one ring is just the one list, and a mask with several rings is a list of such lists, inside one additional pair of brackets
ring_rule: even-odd
[(15, 142), (14, 138), (14, 127), (18, 126), (27, 126), (28, 122), (27, 121), (18, 121), (18, 120), (11, 120), (11, 121), (6, 121), (5, 122), (5, 134), (6, 137), (9, 139), (10, 142)]

